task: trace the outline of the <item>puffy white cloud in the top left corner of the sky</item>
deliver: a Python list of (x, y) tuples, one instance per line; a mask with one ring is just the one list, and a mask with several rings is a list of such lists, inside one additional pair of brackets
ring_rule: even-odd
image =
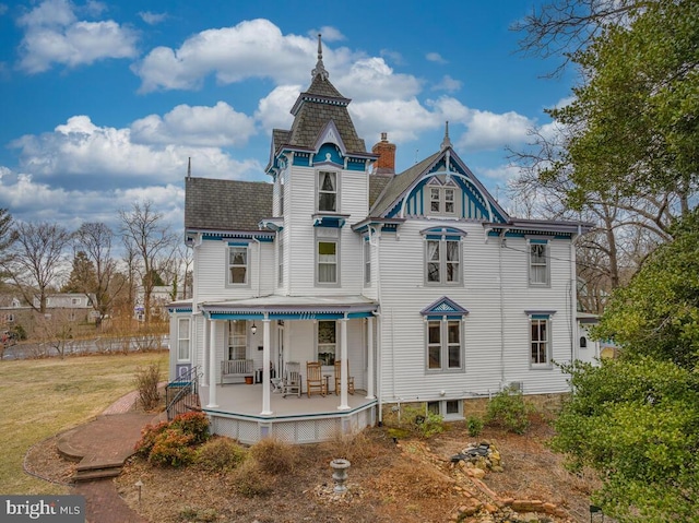
[[(97, 2), (87, 5), (92, 12), (100, 9)], [(25, 28), (20, 69), (28, 73), (46, 71), (54, 63), (72, 68), (137, 55), (135, 33), (111, 20), (79, 21), (68, 0), (45, 0), (17, 23)]]

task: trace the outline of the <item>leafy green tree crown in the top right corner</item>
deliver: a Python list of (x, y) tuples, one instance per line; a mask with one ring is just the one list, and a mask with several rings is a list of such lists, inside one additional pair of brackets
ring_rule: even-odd
[(573, 60), (585, 83), (550, 115), (573, 129), (558, 166), (571, 165), (570, 204), (589, 192), (672, 193), (690, 210), (699, 164), (699, 3), (647, 2), (628, 25), (611, 25)]

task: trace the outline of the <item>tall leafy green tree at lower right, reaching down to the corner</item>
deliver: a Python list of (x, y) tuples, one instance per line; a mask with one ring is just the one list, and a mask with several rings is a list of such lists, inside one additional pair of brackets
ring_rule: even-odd
[(624, 522), (699, 521), (699, 210), (672, 234), (594, 332), (619, 359), (565, 367), (553, 445), (601, 473), (595, 501)]

